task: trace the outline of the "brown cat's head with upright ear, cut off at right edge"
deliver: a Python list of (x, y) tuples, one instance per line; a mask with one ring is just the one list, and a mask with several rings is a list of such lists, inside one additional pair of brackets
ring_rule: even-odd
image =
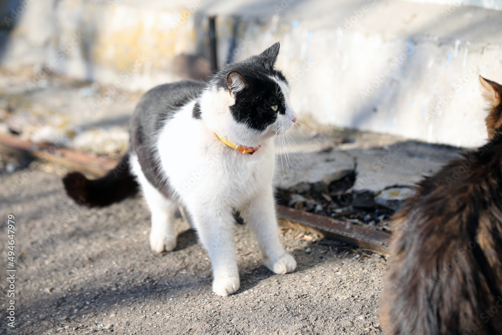
[(486, 130), (488, 138), (492, 138), (500, 126), (502, 126), (502, 85), (479, 76), (481, 83), (481, 93), (486, 102), (488, 102), (488, 116), (486, 117)]

